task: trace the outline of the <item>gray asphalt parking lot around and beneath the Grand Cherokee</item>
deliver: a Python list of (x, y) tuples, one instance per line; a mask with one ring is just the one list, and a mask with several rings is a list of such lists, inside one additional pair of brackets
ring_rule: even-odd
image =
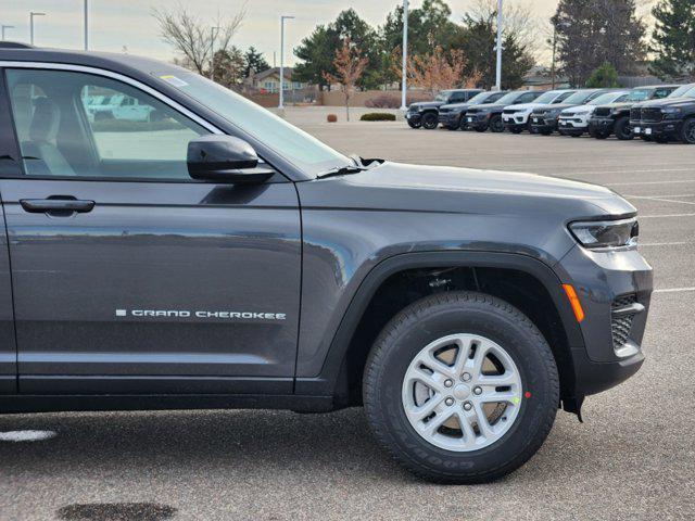
[(55, 433), (0, 435), (0, 519), (695, 518), (695, 147), (328, 125), (323, 115), (288, 111), (365, 157), (567, 177), (628, 198), (657, 289), (642, 370), (590, 397), (584, 423), (559, 414), (530, 462), (478, 486), (417, 481), (375, 445), (358, 409), (0, 416), (0, 433)]

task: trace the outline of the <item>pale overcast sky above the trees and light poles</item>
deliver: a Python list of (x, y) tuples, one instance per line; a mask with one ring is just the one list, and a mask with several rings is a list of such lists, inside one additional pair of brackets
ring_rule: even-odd
[[(88, 0), (90, 49), (110, 52), (142, 54), (170, 61), (176, 54), (162, 41), (157, 24), (152, 17), (152, 9), (181, 4), (198, 14), (203, 23), (224, 18), (237, 13), (243, 4), (241, 0)], [(454, 21), (466, 13), (475, 0), (448, 0)], [(506, 0), (528, 7), (541, 23), (546, 23), (557, 8), (558, 0)], [(270, 65), (274, 56), (279, 65), (280, 23), (279, 16), (294, 15), (286, 22), (286, 64), (292, 64), (291, 50), (316, 25), (327, 24), (348, 7), (372, 25), (382, 24), (387, 14), (401, 0), (352, 0), (350, 3), (334, 0), (248, 0), (247, 17), (235, 37), (233, 45), (242, 49), (254, 46), (265, 53)], [(419, 7), (421, 0), (410, 0), (412, 7)], [(35, 17), (35, 45), (81, 49), (84, 0), (0, 0), (0, 24), (13, 25), (5, 29), (5, 39), (29, 40), (29, 12), (43, 12)]]

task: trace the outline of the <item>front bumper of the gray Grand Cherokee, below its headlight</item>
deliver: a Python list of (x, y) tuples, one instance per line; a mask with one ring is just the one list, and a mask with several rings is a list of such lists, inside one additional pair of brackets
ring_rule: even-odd
[(597, 252), (574, 246), (561, 260), (564, 283), (584, 309), (584, 347), (572, 346), (576, 393), (599, 393), (634, 374), (653, 290), (652, 267), (636, 250)]

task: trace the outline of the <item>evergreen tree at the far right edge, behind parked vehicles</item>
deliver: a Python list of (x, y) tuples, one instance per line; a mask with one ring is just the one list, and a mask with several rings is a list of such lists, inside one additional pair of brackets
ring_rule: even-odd
[(653, 10), (656, 18), (649, 69), (668, 80), (695, 78), (695, 3), (693, 0), (661, 0)]

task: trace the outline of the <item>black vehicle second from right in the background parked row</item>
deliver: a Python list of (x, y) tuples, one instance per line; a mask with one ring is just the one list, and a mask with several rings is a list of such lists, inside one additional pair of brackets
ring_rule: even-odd
[(630, 91), (624, 102), (597, 106), (589, 119), (589, 135), (596, 139), (606, 139), (611, 134), (620, 140), (634, 138), (630, 126), (630, 110), (636, 103), (666, 98), (678, 88), (678, 85), (636, 87)]

